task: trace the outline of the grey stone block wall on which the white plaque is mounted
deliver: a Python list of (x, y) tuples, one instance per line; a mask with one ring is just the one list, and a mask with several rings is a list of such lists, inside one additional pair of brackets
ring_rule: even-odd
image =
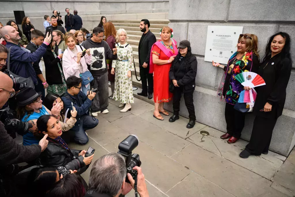
[[(243, 33), (258, 36), (260, 57), (264, 56), (268, 38), (279, 31), (289, 33), (292, 39), (292, 58), (295, 61), (295, 1), (294, 0), (170, 0), (168, 19), (176, 41), (187, 39), (198, 60), (194, 104), (197, 121), (226, 132), (225, 103), (216, 97), (223, 71), (204, 61), (207, 26), (243, 26)], [(295, 68), (295, 63), (293, 63)], [(270, 150), (287, 156), (295, 145), (295, 70), (287, 87), (283, 115), (273, 131)], [(181, 101), (181, 115), (188, 112)], [(172, 104), (166, 105), (172, 110)], [(242, 139), (249, 140), (253, 115), (247, 114)]]

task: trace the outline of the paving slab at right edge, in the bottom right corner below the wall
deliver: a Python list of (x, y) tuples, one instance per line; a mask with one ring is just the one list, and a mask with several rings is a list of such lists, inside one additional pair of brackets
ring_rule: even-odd
[(292, 150), (289, 157), (279, 169), (278, 173), (273, 177), (276, 182), (286, 188), (295, 191), (295, 151)]

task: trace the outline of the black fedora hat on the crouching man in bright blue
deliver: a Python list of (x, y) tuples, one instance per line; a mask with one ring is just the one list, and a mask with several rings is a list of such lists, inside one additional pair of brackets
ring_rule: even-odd
[(17, 105), (18, 106), (26, 106), (27, 104), (32, 103), (35, 101), (39, 96), (41, 95), (41, 92), (36, 92), (34, 88), (31, 87), (25, 87), (19, 93), (16, 95), (17, 99)]

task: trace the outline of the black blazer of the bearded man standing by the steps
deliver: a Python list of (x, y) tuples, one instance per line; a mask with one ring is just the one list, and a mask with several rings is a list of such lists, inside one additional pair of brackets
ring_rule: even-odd
[(138, 45), (139, 66), (142, 66), (144, 62), (150, 65), (150, 50), (157, 41), (156, 36), (150, 30), (148, 30), (144, 38), (142, 36)]

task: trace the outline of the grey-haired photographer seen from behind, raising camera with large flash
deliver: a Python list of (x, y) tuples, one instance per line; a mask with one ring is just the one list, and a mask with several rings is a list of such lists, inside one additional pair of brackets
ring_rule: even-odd
[(135, 197), (149, 197), (139, 155), (132, 154), (138, 142), (136, 135), (129, 135), (119, 144), (118, 153), (106, 154), (94, 162), (85, 197), (124, 197), (132, 188)]

